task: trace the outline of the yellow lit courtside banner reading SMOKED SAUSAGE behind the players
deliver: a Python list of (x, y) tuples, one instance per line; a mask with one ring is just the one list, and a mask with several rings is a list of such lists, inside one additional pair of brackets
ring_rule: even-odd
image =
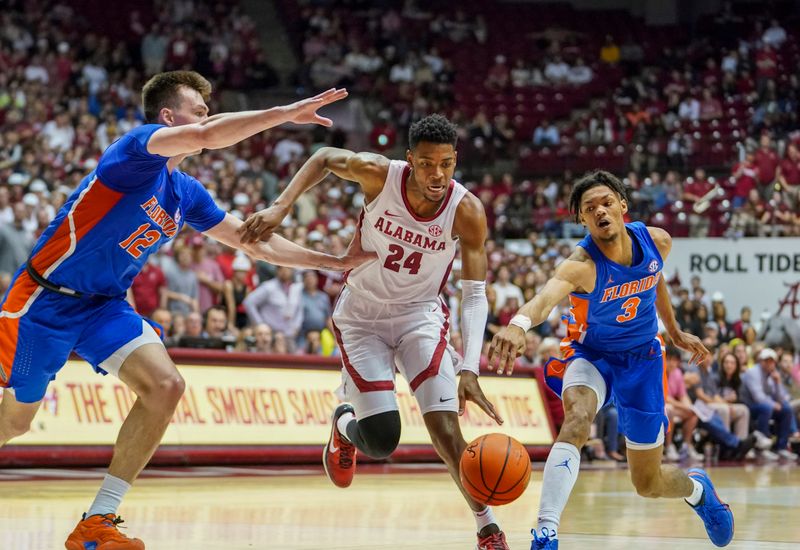
[[(223, 361), (219, 361), (223, 363)], [(334, 369), (253, 368), (178, 364), (186, 392), (163, 445), (323, 445), (339, 400), (341, 375)], [(486, 396), (505, 420), (496, 426), (469, 404), (461, 419), (464, 436), (499, 431), (527, 445), (553, 442), (549, 419), (534, 377), (481, 377)], [(113, 376), (96, 374), (75, 360), (51, 382), (31, 431), (13, 445), (113, 445), (135, 400)], [(416, 400), (402, 377), (397, 400), (401, 444), (429, 444)]]

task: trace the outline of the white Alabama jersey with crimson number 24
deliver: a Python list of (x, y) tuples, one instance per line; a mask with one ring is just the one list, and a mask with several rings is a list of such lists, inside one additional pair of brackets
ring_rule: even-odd
[(435, 300), (444, 287), (453, 258), (453, 220), (467, 189), (450, 181), (445, 199), (431, 218), (417, 216), (406, 198), (411, 167), (393, 160), (380, 194), (364, 207), (360, 223), (361, 245), (378, 259), (347, 276), (356, 294), (377, 302), (408, 304)]

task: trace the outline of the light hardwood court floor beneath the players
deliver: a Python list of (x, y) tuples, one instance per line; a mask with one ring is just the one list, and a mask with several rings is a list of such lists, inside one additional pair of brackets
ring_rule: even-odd
[[(728, 548), (798, 548), (800, 467), (709, 471), (736, 516)], [(127, 532), (148, 550), (475, 547), (472, 517), (446, 473), (435, 466), (392, 472), (362, 472), (341, 490), (317, 468), (150, 470), (121, 514)], [(100, 470), (0, 470), (0, 548), (63, 548), (101, 476)], [(517, 502), (495, 509), (512, 549), (530, 546), (540, 481), (534, 472)], [(713, 548), (686, 504), (635, 496), (624, 468), (582, 471), (562, 529), (566, 549)]]

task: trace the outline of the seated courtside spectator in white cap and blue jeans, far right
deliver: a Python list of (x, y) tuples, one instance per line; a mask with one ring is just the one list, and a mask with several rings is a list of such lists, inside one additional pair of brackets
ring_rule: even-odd
[[(759, 432), (770, 434), (770, 420), (774, 420), (775, 450), (781, 458), (797, 460), (788, 449), (792, 433), (792, 408), (789, 392), (777, 370), (778, 355), (772, 348), (758, 354), (758, 362), (742, 374), (742, 401), (750, 408)], [(767, 455), (767, 458), (772, 458)]]

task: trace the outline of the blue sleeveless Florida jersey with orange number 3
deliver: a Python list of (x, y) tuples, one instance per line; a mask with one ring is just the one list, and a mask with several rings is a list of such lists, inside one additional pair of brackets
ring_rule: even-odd
[(609, 260), (591, 235), (578, 243), (594, 260), (597, 279), (591, 293), (570, 294), (567, 339), (600, 352), (631, 350), (658, 334), (656, 285), (664, 261), (643, 223), (625, 227), (641, 250), (630, 267)]

